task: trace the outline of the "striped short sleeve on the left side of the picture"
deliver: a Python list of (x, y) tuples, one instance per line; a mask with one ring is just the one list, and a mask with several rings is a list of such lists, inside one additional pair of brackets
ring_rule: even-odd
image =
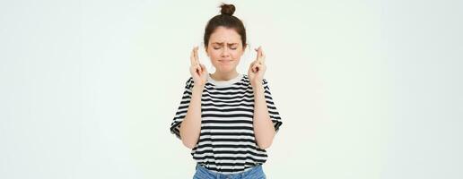
[(183, 91), (183, 95), (179, 104), (179, 108), (173, 117), (173, 121), (170, 124), (170, 132), (175, 134), (177, 138), (180, 139), (180, 124), (187, 115), (189, 101), (191, 99), (191, 89), (193, 86), (193, 78), (189, 78), (188, 81), (185, 83), (185, 89)]

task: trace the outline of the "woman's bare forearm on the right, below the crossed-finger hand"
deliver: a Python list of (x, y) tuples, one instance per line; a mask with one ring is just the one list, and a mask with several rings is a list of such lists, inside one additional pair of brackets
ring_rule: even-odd
[(254, 135), (260, 149), (272, 145), (275, 137), (275, 127), (266, 107), (265, 89), (262, 83), (252, 87), (254, 90)]

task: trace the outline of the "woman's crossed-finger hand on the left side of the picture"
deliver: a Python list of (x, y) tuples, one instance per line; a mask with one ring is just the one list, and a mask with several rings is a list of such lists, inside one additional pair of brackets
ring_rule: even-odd
[(205, 86), (205, 81), (207, 81), (207, 69), (205, 69), (204, 64), (199, 63), (199, 58), (197, 57), (197, 47), (193, 47), (191, 55), (189, 56), (191, 66), (189, 67), (189, 72), (193, 81), (195, 81), (195, 86)]

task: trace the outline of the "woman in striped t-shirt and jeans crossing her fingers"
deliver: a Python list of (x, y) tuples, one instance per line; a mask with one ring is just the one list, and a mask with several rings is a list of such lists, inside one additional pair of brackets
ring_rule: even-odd
[(220, 15), (205, 26), (205, 52), (216, 71), (208, 73), (190, 55), (190, 73), (179, 109), (170, 126), (197, 161), (194, 178), (265, 178), (266, 150), (282, 124), (271, 97), (262, 48), (248, 75), (237, 72), (246, 48), (246, 30), (222, 4)]

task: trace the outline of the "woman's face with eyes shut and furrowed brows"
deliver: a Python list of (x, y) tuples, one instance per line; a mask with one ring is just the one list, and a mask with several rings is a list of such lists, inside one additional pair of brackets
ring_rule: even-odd
[(240, 34), (222, 26), (211, 34), (205, 51), (217, 72), (235, 71), (244, 54)]

